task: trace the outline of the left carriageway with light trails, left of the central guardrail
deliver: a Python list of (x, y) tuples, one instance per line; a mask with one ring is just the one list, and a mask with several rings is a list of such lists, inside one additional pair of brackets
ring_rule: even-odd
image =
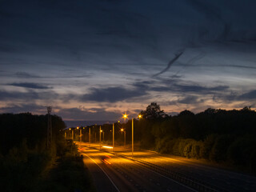
[(105, 151), (77, 142), (96, 189), (107, 191), (195, 191), (164, 175)]

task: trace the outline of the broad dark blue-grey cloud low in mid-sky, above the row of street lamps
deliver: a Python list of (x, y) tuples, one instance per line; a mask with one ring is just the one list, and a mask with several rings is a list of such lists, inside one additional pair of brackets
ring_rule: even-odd
[(119, 102), (128, 98), (140, 97), (146, 94), (145, 90), (129, 90), (120, 86), (108, 88), (93, 88), (90, 94), (84, 94), (81, 101)]

